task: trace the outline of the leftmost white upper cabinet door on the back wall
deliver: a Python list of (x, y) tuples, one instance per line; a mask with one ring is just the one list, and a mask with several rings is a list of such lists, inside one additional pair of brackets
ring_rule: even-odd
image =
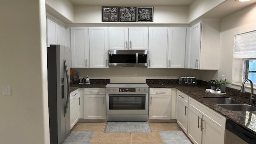
[(71, 27), (71, 67), (89, 68), (88, 27)]

